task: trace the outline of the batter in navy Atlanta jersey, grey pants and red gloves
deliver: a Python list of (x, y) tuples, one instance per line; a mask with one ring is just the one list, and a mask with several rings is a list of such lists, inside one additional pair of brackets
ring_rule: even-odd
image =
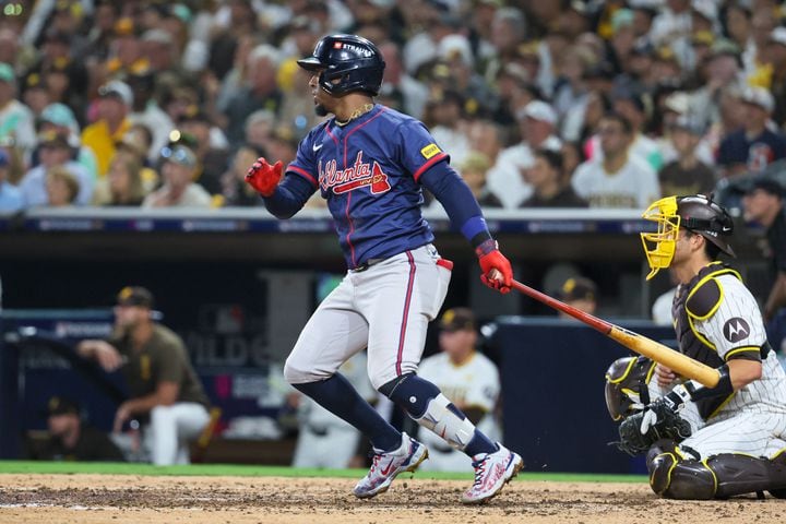
[(298, 60), (311, 72), (318, 115), (333, 115), (298, 145), (285, 170), (260, 158), (247, 181), (278, 218), (297, 213), (314, 191), (327, 201), (348, 272), (306, 324), (284, 368), (286, 380), (369, 437), (372, 466), (358, 498), (385, 491), (396, 475), (427, 458), (424, 444), (400, 433), (337, 373), (368, 347), (372, 385), (420, 426), (473, 458), (475, 483), (464, 503), (485, 502), (521, 469), (521, 456), (478, 431), (431, 382), (416, 374), (429, 321), (448, 291), (452, 263), (431, 246), (420, 212), (428, 188), (473, 245), (480, 278), (510, 290), (511, 265), (491, 238), (477, 201), (426, 127), (374, 104), (384, 60), (371, 41), (329, 35)]

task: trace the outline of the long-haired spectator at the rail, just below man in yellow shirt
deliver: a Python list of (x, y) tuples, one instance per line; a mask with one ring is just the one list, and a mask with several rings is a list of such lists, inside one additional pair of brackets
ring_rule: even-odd
[(109, 163), (109, 172), (96, 186), (95, 205), (139, 206), (146, 195), (142, 182), (142, 164), (136, 155), (124, 155), (118, 150)]

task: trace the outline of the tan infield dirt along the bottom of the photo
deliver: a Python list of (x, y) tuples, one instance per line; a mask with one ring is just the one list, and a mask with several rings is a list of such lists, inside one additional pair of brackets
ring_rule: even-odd
[(667, 501), (639, 484), (514, 481), (467, 508), (458, 503), (466, 481), (420, 477), (359, 501), (348, 479), (0, 475), (0, 523), (786, 522), (786, 500)]

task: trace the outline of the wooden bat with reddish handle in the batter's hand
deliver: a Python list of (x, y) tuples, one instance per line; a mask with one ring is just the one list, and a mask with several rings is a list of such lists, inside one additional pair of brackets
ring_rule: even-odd
[(585, 313), (573, 306), (569, 306), (556, 298), (549, 297), (548, 295), (540, 293), (537, 289), (533, 289), (532, 287), (515, 279), (512, 282), (512, 287), (524, 295), (549, 306), (550, 308), (570, 314), (574, 319), (584, 322), (609, 338), (622, 344), (628, 349), (631, 349), (640, 355), (644, 355), (645, 357), (650, 357), (682, 377), (694, 379), (707, 388), (715, 388), (718, 383), (720, 373), (716, 369), (676, 352), (659, 342), (655, 342), (644, 335), (640, 335), (639, 333), (634, 333), (626, 330), (624, 327), (620, 327), (619, 325), (615, 325), (611, 322), (607, 322), (595, 315)]

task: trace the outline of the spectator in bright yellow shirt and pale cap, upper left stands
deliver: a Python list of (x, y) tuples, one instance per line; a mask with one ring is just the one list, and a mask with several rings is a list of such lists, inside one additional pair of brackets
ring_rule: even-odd
[(117, 144), (131, 127), (128, 115), (133, 107), (133, 94), (127, 83), (112, 80), (98, 90), (98, 119), (82, 131), (82, 143), (93, 150), (98, 177), (104, 177)]

